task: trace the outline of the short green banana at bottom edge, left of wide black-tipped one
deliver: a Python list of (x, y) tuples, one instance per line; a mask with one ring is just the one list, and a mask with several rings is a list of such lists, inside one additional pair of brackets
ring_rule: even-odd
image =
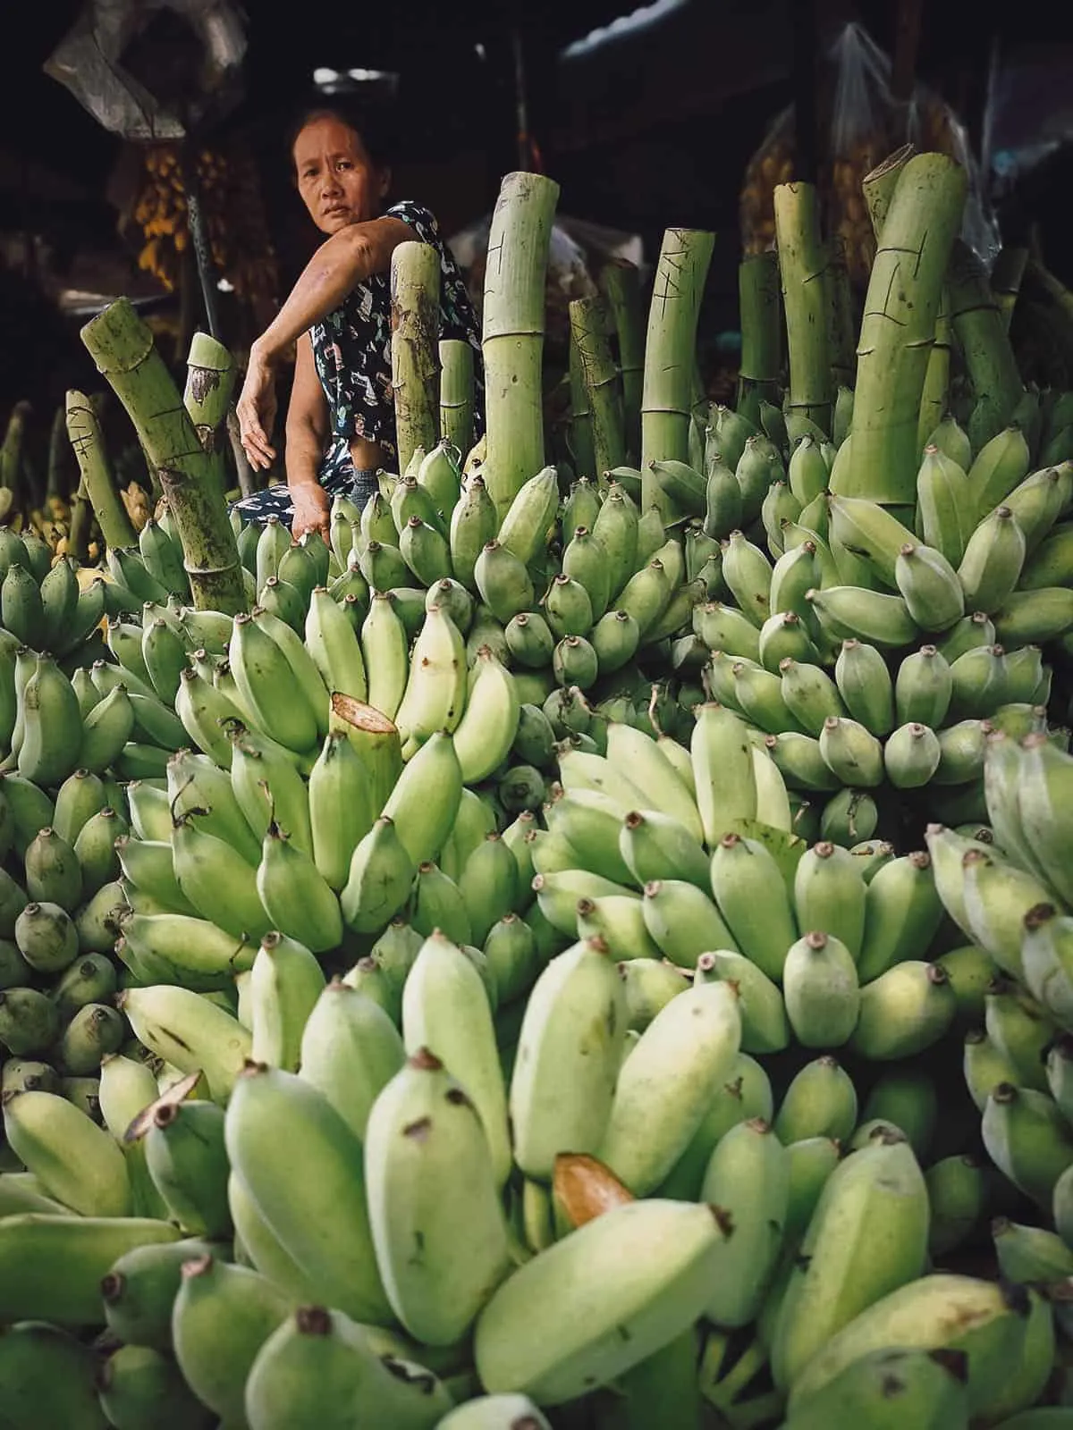
[(292, 1310), (289, 1297), (245, 1266), (213, 1256), (183, 1263), (172, 1344), (186, 1384), (227, 1424), (246, 1426), (246, 1377)]

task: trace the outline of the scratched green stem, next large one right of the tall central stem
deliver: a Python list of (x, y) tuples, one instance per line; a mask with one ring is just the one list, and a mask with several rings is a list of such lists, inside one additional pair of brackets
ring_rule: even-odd
[(665, 521), (678, 515), (651, 469), (652, 462), (690, 460), (690, 422), (697, 372), (697, 320), (715, 235), (667, 229), (648, 309), (641, 396), (641, 500)]

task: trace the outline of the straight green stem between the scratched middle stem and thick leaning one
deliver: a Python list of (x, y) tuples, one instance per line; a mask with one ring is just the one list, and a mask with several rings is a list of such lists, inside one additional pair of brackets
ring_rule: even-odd
[(783, 280), (790, 408), (830, 435), (831, 355), (827, 337), (827, 249), (820, 193), (811, 183), (775, 184), (775, 243)]

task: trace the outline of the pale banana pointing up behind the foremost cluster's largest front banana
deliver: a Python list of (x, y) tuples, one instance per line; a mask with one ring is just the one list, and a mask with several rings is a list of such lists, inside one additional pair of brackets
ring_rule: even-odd
[(511, 1165), (506, 1091), (495, 1024), (481, 974), (442, 935), (425, 941), (402, 990), (402, 1035), (413, 1055), (429, 1048), (474, 1100), (492, 1148), (496, 1184)]

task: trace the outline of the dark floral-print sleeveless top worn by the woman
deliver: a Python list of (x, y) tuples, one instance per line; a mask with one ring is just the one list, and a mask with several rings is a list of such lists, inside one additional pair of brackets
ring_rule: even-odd
[[(482, 430), (484, 382), (481, 378), (481, 335), (474, 305), (465, 280), (439, 236), (432, 213), (403, 199), (385, 210), (413, 229), (422, 243), (439, 253), (439, 320), (441, 337), (456, 337), (474, 349), (474, 422)], [(373, 273), (343, 299), (339, 307), (309, 329), (313, 359), (328, 399), (332, 442), (326, 468), (332, 458), (349, 463), (349, 439), (365, 438), (395, 458), (395, 408), (391, 385), (391, 277)], [(342, 439), (342, 440), (340, 440)], [(336, 456), (338, 453), (338, 456)], [(329, 475), (322, 469), (320, 479)]]

